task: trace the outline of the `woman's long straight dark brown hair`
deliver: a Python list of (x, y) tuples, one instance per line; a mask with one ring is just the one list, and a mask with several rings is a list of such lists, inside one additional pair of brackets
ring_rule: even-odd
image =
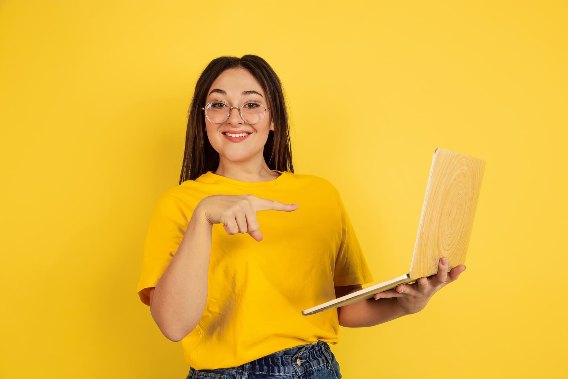
[(244, 68), (262, 86), (270, 102), (270, 111), (267, 115), (274, 122), (274, 131), (269, 131), (268, 139), (264, 145), (264, 159), (271, 170), (294, 173), (292, 165), (292, 151), (290, 146), (290, 132), (288, 126), (288, 111), (282, 90), (280, 78), (272, 67), (261, 57), (256, 55), (222, 56), (212, 60), (203, 70), (197, 84), (187, 118), (185, 135), (185, 151), (179, 184), (186, 180), (194, 180), (206, 173), (214, 171), (219, 166), (219, 153), (209, 143), (204, 135), (205, 106), (207, 91), (215, 79), (224, 70), (229, 68)]

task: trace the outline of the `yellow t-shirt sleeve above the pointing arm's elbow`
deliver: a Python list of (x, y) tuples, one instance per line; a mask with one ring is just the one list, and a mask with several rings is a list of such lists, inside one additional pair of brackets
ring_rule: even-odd
[(142, 272), (137, 293), (145, 305), (150, 305), (150, 288), (155, 287), (175, 255), (187, 229), (187, 217), (179, 203), (161, 195), (150, 219), (144, 253)]

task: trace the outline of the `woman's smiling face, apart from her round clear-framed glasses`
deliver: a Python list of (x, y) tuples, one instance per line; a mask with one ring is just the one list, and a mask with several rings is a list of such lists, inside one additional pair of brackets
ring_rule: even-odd
[[(243, 91), (255, 91), (256, 93), (243, 94)], [(264, 90), (245, 69), (228, 69), (215, 79), (207, 91), (205, 104), (215, 100), (224, 101), (229, 107), (240, 107), (248, 101), (256, 101), (261, 103), (265, 109), (270, 108)], [(231, 110), (229, 118), (222, 124), (212, 123), (205, 117), (207, 138), (215, 151), (219, 153), (220, 160), (243, 162), (258, 158), (259, 155), (262, 157), (268, 132), (274, 130), (270, 113), (272, 110), (265, 111), (264, 118), (257, 124), (245, 122), (236, 108)], [(225, 132), (230, 133), (231, 131), (237, 134), (244, 132), (250, 134), (245, 138), (225, 135)], [(262, 159), (264, 160), (264, 157)]]

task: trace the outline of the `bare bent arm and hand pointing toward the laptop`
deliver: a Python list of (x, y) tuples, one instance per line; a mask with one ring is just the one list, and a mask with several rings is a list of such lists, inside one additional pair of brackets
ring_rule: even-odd
[(166, 338), (181, 341), (201, 320), (207, 303), (211, 234), (224, 224), (228, 235), (248, 233), (261, 241), (257, 211), (292, 212), (298, 205), (247, 195), (211, 195), (195, 207), (176, 254), (150, 289), (150, 313)]

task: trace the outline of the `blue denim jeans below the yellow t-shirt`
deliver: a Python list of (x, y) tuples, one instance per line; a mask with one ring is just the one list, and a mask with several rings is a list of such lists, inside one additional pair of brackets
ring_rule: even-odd
[(240, 366), (195, 370), (186, 379), (341, 379), (339, 363), (327, 342), (277, 351)]

